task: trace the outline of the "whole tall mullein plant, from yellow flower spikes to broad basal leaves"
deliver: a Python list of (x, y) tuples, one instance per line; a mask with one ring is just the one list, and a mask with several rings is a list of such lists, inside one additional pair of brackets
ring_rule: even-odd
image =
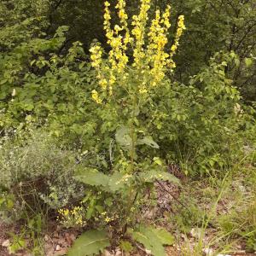
[[(90, 48), (91, 65), (96, 69), (98, 79), (98, 87), (92, 90), (91, 96), (97, 107), (102, 108), (102, 112), (107, 111), (118, 117), (115, 119), (118, 124), (113, 126), (118, 127), (115, 141), (119, 145), (120, 154), (111, 160), (112, 170), (108, 174), (83, 166), (76, 173), (74, 178), (90, 188), (82, 201), (86, 220), (76, 219), (82, 225), (92, 221), (93, 226), (101, 230), (86, 231), (74, 242), (68, 255), (102, 252), (104, 247), (110, 245), (108, 233), (102, 231), (102, 228), (107, 228), (112, 230), (112, 234), (130, 236), (143, 243), (153, 255), (162, 256), (166, 255), (163, 245), (172, 245), (173, 237), (166, 230), (142, 224), (140, 204), (146, 200), (144, 192), (148, 184), (152, 188), (157, 179), (173, 183), (178, 183), (178, 180), (166, 172), (166, 166), (159, 157), (151, 159), (149, 155), (143, 154), (139, 159), (137, 145), (159, 148), (152, 137), (145, 136), (147, 132), (143, 130), (147, 124), (140, 112), (150, 102), (148, 99), (154, 91), (161, 86), (166, 71), (172, 71), (175, 67), (172, 58), (185, 29), (184, 17), (178, 17), (174, 43), (166, 52), (171, 26), (170, 6), (166, 7), (163, 14), (157, 10), (148, 27), (150, 0), (141, 0), (139, 14), (132, 16), (131, 30), (125, 13), (125, 1), (119, 0), (115, 6), (119, 24), (114, 26), (111, 24), (109, 6), (110, 3), (105, 2), (104, 29), (110, 50), (105, 54), (100, 44)], [(62, 223), (70, 219), (69, 211), (64, 209), (60, 213)], [(121, 244), (127, 245), (130, 241), (120, 241)]]

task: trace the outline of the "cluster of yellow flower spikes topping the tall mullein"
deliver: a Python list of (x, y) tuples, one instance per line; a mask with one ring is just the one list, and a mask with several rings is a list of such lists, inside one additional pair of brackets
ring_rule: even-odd
[[(108, 91), (109, 95), (113, 94), (113, 90), (117, 86), (129, 90), (128, 81), (135, 79), (137, 92), (140, 94), (147, 93), (150, 87), (160, 84), (160, 81), (164, 79), (167, 67), (171, 70), (175, 67), (172, 56), (177, 51), (179, 39), (185, 29), (184, 16), (180, 15), (178, 18), (174, 44), (170, 52), (166, 53), (168, 29), (171, 26), (171, 7), (167, 6), (163, 14), (157, 10), (148, 29), (148, 10), (151, 0), (140, 1), (139, 14), (132, 16), (131, 26), (133, 28), (131, 32), (128, 28), (128, 15), (125, 13), (125, 0), (118, 0), (115, 6), (119, 16), (119, 25), (115, 26), (111, 25), (110, 3), (105, 2), (104, 30), (110, 46), (108, 59), (102, 60), (102, 48), (98, 45), (93, 46), (90, 52), (92, 67), (96, 68), (97, 79), (99, 79), (102, 91)], [(146, 38), (148, 38), (147, 46), (145, 46)], [(128, 65), (127, 51), (129, 45), (133, 51), (131, 65)], [(102, 103), (96, 90), (92, 91), (92, 98), (95, 102)]]

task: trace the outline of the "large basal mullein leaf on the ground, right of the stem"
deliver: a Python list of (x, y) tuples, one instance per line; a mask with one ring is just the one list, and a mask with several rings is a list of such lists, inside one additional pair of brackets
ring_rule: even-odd
[[(159, 230), (153, 227), (147, 227), (144, 225), (139, 225), (137, 230), (128, 230), (132, 238), (143, 244), (143, 246), (154, 256), (165, 256), (166, 251), (163, 244), (169, 240), (168, 237), (160, 234)], [(170, 237), (169, 237), (170, 238)], [(165, 241), (165, 243), (163, 243)], [(169, 241), (171, 243), (171, 241)]]

